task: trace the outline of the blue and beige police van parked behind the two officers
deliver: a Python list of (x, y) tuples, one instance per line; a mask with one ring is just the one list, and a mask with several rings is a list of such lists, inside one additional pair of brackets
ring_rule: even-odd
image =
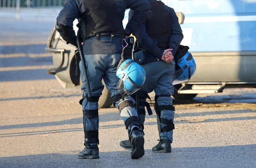
[[(177, 12), (184, 34), (181, 44), (189, 46), (197, 64), (188, 82), (175, 85), (173, 97), (192, 99), (224, 88), (256, 87), (256, 0), (162, 1)], [(124, 27), (127, 22), (128, 11)], [(52, 29), (46, 51), (52, 52), (54, 67), (47, 72), (54, 74), (64, 88), (81, 84), (79, 71), (75, 75), (75, 49)], [(104, 88), (99, 107), (111, 105), (110, 93)]]

